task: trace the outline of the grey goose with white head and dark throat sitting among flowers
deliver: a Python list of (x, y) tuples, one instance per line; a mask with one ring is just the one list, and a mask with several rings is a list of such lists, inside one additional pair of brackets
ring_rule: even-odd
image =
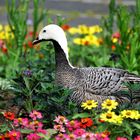
[(87, 100), (101, 104), (106, 99), (120, 103), (129, 102), (127, 97), (115, 93), (126, 89), (126, 82), (140, 82), (140, 77), (126, 70), (109, 67), (78, 68), (71, 65), (68, 56), (67, 38), (63, 29), (55, 24), (45, 26), (33, 45), (51, 41), (55, 50), (56, 84), (72, 90), (70, 99), (80, 105)]

